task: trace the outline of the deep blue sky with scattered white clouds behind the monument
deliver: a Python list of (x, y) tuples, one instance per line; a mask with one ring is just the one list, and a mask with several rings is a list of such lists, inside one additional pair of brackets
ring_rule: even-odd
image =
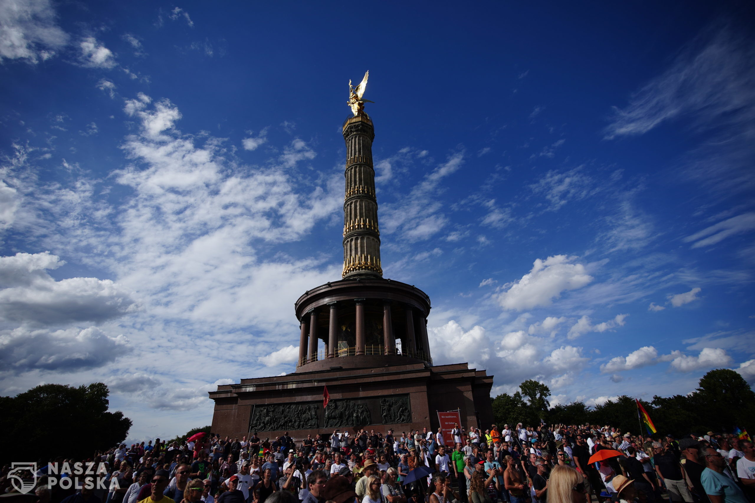
[[(521, 3), (521, 2), (520, 2)], [(385, 277), (436, 363), (551, 403), (755, 382), (747, 2), (0, 7), (0, 392), (103, 381), (130, 437), (291, 372), (341, 276), (365, 70)]]

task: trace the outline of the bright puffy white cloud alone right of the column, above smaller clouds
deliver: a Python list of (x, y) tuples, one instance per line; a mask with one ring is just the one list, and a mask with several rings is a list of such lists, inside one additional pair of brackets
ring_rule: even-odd
[(565, 255), (536, 259), (529, 273), (498, 296), (498, 303), (504, 309), (522, 311), (550, 305), (562, 292), (584, 287), (593, 277), (587, 274), (584, 265), (572, 263), (576, 259)]

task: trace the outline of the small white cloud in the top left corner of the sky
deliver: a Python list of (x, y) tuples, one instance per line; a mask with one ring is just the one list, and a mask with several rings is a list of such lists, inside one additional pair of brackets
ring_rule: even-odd
[(39, 63), (54, 57), (68, 42), (56, 17), (50, 0), (0, 2), (0, 63), (16, 59)]

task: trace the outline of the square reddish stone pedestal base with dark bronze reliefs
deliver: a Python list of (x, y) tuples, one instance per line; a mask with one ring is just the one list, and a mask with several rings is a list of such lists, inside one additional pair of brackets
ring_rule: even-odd
[[(325, 385), (331, 397), (327, 409), (322, 407)], [(241, 438), (256, 431), (263, 440), (273, 440), (288, 431), (297, 441), (336, 428), (352, 433), (393, 429), (400, 435), (425, 427), (436, 431), (436, 412), (455, 409), (461, 410), (464, 428), (484, 430), (493, 421), (492, 385), (492, 376), (467, 363), (430, 367), (407, 362), (242, 379), (210, 392), (212, 432)]]

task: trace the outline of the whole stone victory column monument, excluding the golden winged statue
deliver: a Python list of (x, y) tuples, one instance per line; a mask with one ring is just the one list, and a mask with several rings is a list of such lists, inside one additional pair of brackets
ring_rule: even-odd
[[(301, 439), (335, 428), (408, 431), (438, 427), (437, 411), (459, 409), (464, 427), (492, 422), (492, 376), (467, 363), (433, 365), (430, 297), (382, 277), (374, 191), (374, 126), (363, 112), (343, 126), (344, 270), (294, 305), (300, 344), (294, 373), (218, 386), (212, 431), (256, 431)], [(398, 343), (397, 343), (398, 341)], [(328, 387), (331, 401), (322, 406)]]

